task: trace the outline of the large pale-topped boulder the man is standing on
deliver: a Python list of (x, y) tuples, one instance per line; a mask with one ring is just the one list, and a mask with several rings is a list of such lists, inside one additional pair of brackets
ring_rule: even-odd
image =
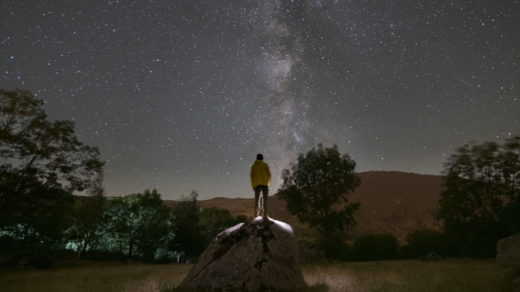
[(256, 292), (305, 285), (291, 226), (256, 217), (218, 234), (178, 288)]

